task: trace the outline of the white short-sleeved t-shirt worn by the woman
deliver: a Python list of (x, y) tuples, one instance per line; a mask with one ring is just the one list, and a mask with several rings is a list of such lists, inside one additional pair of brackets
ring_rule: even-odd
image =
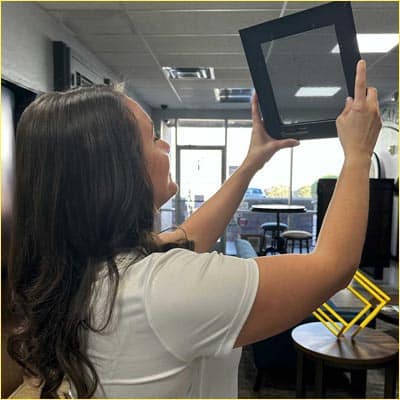
[[(257, 292), (255, 261), (184, 249), (134, 258), (117, 257), (113, 318), (89, 333), (100, 379), (94, 397), (237, 397), (241, 349), (233, 346)], [(101, 272), (95, 326), (109, 301)]]

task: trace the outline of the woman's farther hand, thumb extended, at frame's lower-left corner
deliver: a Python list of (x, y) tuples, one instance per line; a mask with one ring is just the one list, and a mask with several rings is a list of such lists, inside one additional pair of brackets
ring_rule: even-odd
[(256, 93), (253, 94), (251, 99), (251, 116), (253, 130), (243, 166), (252, 169), (256, 173), (278, 150), (298, 146), (300, 142), (296, 139), (276, 140), (268, 134), (261, 120)]

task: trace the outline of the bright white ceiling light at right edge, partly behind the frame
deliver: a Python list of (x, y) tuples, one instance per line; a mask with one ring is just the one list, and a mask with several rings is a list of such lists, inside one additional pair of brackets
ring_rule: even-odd
[[(387, 53), (399, 44), (397, 33), (359, 33), (357, 42), (360, 53)], [(336, 45), (331, 53), (339, 53)]]

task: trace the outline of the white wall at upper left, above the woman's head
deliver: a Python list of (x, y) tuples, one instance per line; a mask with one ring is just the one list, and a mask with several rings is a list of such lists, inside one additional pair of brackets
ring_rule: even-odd
[[(71, 70), (79, 66), (83, 74), (97, 82), (121, 77), (107, 68), (93, 53), (75, 39), (73, 32), (56, 21), (40, 6), (27, 2), (2, 2), (2, 78), (34, 92), (53, 90), (52, 41), (63, 41), (71, 48)], [(131, 88), (127, 94), (150, 107)]]

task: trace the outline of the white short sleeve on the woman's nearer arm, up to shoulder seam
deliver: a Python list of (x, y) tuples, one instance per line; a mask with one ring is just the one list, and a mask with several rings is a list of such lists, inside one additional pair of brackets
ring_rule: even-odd
[(228, 354), (257, 293), (256, 262), (183, 249), (153, 256), (145, 306), (163, 346), (184, 361)]

